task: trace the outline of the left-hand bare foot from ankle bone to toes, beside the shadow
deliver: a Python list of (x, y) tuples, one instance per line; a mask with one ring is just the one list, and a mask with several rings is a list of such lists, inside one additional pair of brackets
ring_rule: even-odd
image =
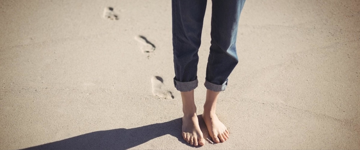
[(193, 114), (192, 116), (184, 115), (182, 130), (182, 135), (186, 142), (194, 146), (205, 144), (205, 139), (200, 130), (199, 121), (196, 114)]

